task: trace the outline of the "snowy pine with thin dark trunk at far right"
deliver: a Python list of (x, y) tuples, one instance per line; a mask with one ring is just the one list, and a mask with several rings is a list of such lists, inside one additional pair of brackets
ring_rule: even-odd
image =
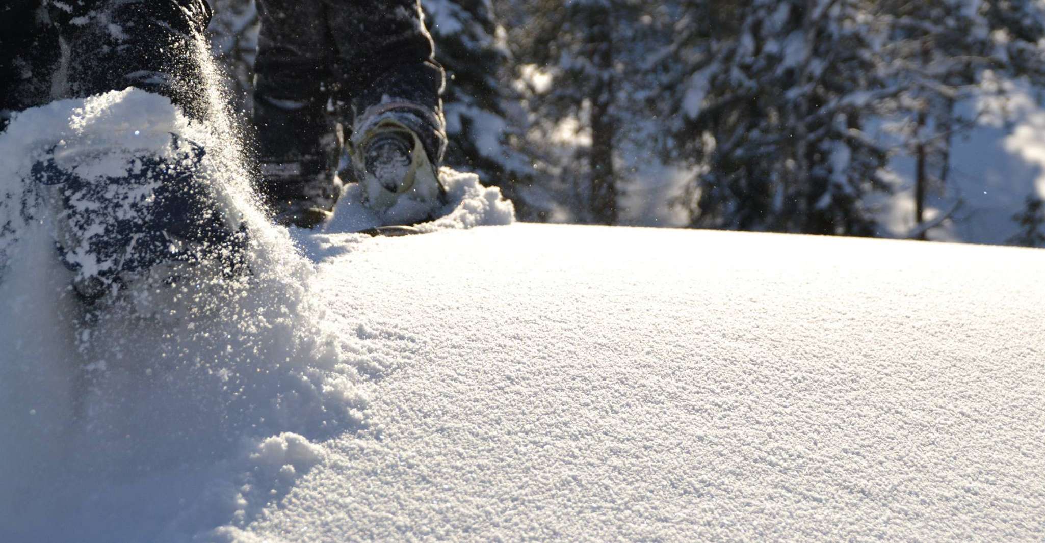
[[(976, 123), (955, 104), (982, 93), (985, 74), (1045, 81), (1043, 13), (1027, 0), (884, 0), (876, 17), (888, 27), (889, 77), (904, 89), (895, 107), (907, 122), (898, 133), (915, 165), (913, 236), (925, 239), (927, 196), (946, 188), (953, 136)], [(1004, 89), (996, 87), (1002, 101)]]

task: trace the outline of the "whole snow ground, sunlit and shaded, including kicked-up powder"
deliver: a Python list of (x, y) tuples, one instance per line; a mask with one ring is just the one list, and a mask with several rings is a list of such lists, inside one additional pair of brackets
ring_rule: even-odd
[(506, 225), (448, 185), (423, 235), (256, 221), (235, 288), (95, 324), (22, 225), (0, 541), (1045, 534), (1045, 253)]

